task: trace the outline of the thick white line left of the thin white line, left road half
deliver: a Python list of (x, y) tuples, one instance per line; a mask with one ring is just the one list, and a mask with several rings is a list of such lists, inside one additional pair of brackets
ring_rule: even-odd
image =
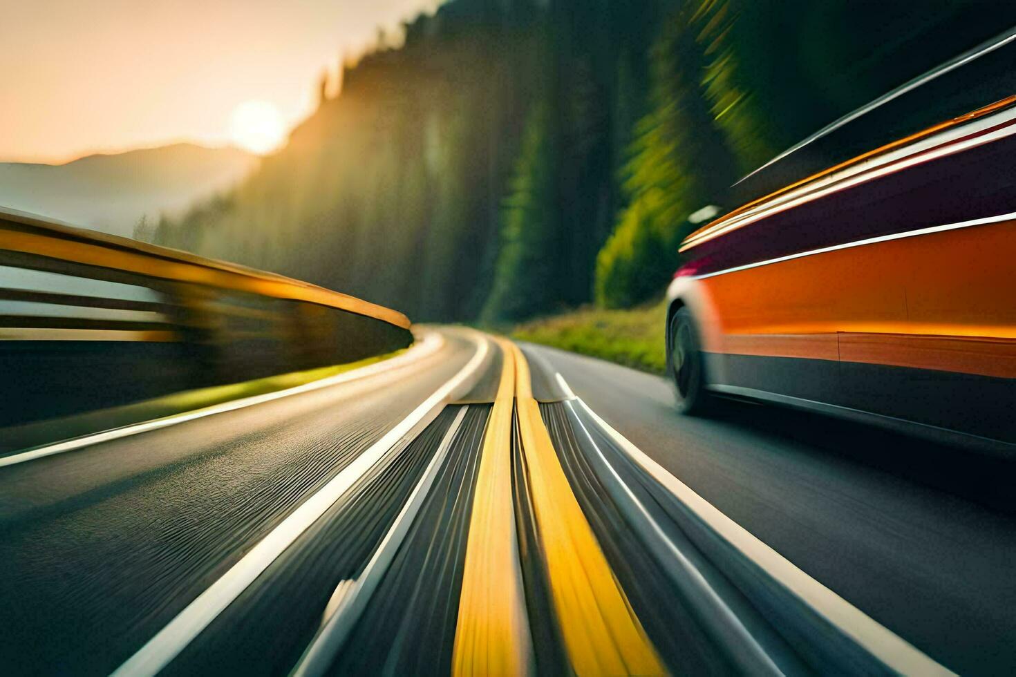
[(207, 590), (198, 595), (155, 636), (121, 665), (114, 675), (154, 675), (169, 665), (201, 630), (230, 605), (301, 534), (338, 500), (384, 455), (400, 442), (411, 439), (433, 421), (445, 404), (467, 392), (479, 378), (487, 357), (488, 339), (479, 332), (471, 337), (477, 346), (469, 361), (388, 430), (363, 454), (343, 468), (327, 484), (307, 498), (281, 523), (258, 542)]

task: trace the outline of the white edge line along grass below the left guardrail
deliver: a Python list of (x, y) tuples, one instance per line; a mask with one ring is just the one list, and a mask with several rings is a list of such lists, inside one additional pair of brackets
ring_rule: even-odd
[(321, 379), (320, 381), (314, 381), (302, 386), (294, 386), (293, 388), (275, 391), (274, 393), (252, 395), (251, 397), (232, 400), (230, 402), (223, 402), (221, 404), (204, 407), (185, 414), (173, 414), (172, 416), (156, 418), (154, 420), (144, 421), (141, 423), (133, 423), (123, 427), (113, 428), (112, 430), (104, 430), (103, 432), (96, 432), (81, 437), (74, 437), (73, 439), (58, 442), (53, 445), (46, 445), (45, 447), (37, 447), (36, 449), (29, 449), (19, 454), (12, 454), (10, 456), (0, 458), (0, 468), (3, 468), (4, 466), (12, 466), (18, 463), (24, 463), (25, 461), (35, 461), (36, 459), (53, 456), (55, 454), (77, 451), (84, 447), (90, 447), (92, 445), (111, 442), (113, 439), (120, 439), (122, 437), (128, 437), (141, 432), (158, 430), (178, 423), (184, 423), (186, 421), (192, 421), (197, 418), (204, 418), (205, 416), (220, 414), (227, 411), (235, 411), (237, 409), (243, 409), (244, 407), (254, 406), (255, 404), (271, 402), (283, 397), (290, 397), (291, 395), (308, 393), (310, 391), (330, 388), (332, 386), (338, 386), (339, 384), (348, 383), (351, 381), (358, 381), (360, 379), (377, 376), (378, 374), (388, 371), (389, 369), (405, 366), (406, 364), (429, 357), (440, 350), (441, 346), (444, 345), (444, 338), (439, 333), (427, 331), (424, 333), (423, 341), (417, 343), (401, 355), (386, 359), (382, 362), (375, 362), (374, 364), (368, 364), (367, 366), (359, 369), (336, 374), (335, 376), (328, 377), (327, 379)]

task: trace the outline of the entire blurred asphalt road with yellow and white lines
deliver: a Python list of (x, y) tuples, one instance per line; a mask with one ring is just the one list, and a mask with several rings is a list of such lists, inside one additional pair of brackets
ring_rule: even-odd
[(656, 377), (468, 330), (424, 344), (0, 458), (5, 672), (1016, 668), (1004, 464), (743, 403), (679, 417)]

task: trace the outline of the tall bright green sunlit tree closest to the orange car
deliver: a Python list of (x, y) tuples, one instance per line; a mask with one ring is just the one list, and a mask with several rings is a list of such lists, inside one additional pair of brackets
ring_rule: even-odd
[(595, 298), (607, 308), (659, 293), (678, 266), (688, 215), (718, 201), (738, 174), (705, 92), (715, 45), (701, 42), (725, 5), (701, 7), (689, 3), (677, 10), (651, 51), (651, 109), (636, 126), (621, 171), (628, 205), (596, 258)]

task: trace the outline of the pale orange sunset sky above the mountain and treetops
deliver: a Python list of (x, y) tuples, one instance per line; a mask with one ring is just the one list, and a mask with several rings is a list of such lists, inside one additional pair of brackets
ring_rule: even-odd
[(312, 111), (323, 69), (434, 4), (0, 0), (0, 161), (224, 145), (249, 101), (292, 127)]

